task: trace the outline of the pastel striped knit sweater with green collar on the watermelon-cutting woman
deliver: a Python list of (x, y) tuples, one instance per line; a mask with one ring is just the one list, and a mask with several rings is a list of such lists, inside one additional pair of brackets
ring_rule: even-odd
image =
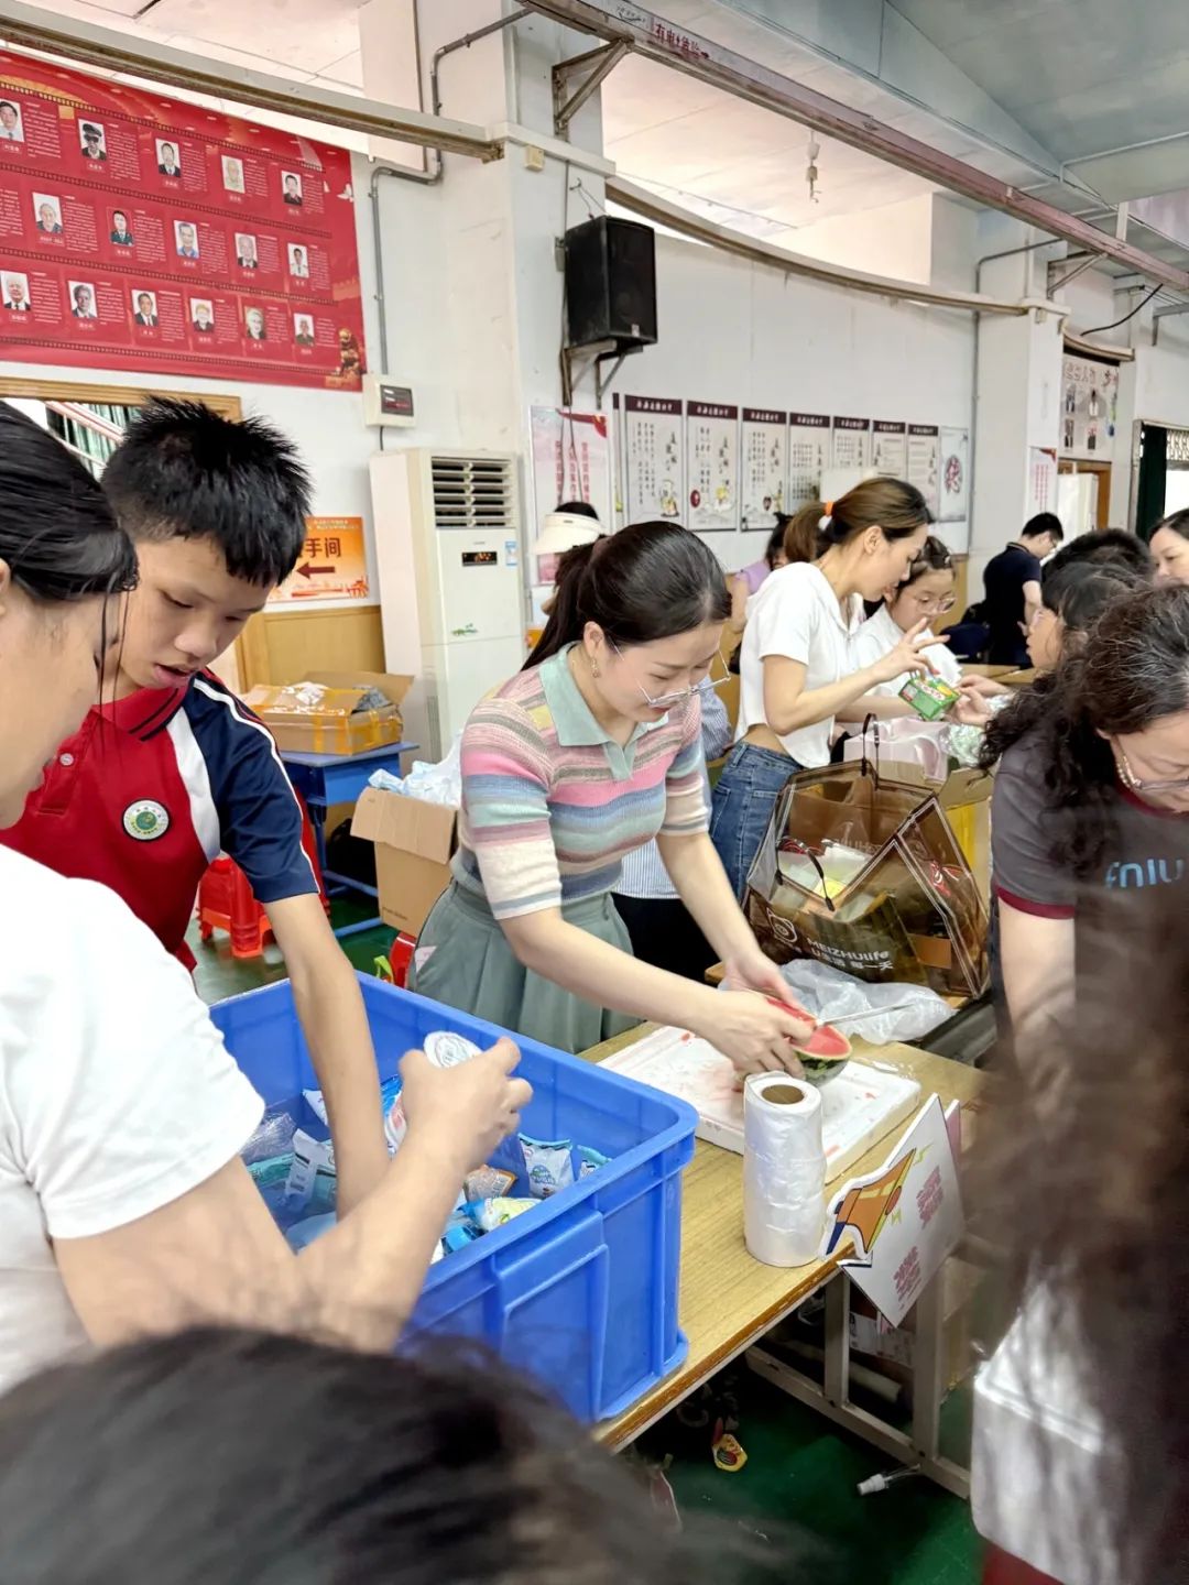
[(568, 651), (490, 694), (466, 723), (461, 758), (453, 877), (496, 919), (598, 897), (658, 832), (707, 829), (698, 696), (620, 747), (591, 715)]

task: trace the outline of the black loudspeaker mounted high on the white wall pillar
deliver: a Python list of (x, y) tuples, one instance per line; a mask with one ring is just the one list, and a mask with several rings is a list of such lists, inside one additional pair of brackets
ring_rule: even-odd
[(568, 346), (614, 341), (621, 352), (656, 341), (656, 233), (596, 216), (566, 231)]

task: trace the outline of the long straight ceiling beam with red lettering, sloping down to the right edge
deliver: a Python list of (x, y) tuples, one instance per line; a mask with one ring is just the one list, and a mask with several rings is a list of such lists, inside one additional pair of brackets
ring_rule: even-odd
[(1127, 269), (1153, 282), (1189, 292), (1189, 271), (1156, 258), (1130, 243), (1065, 214), (1053, 204), (1032, 198), (1018, 187), (1000, 182), (964, 160), (956, 160), (939, 149), (910, 138), (907, 133), (875, 120), (864, 111), (851, 109), (839, 100), (828, 98), (813, 89), (782, 76), (756, 60), (724, 49), (707, 38), (675, 27), (640, 6), (621, 5), (618, 0), (526, 0), (531, 11), (566, 27), (575, 27), (610, 43), (623, 41), (631, 49), (671, 67), (712, 87), (748, 100), (764, 109), (785, 116), (816, 133), (837, 138), (854, 149), (862, 149), (889, 165), (923, 176), (950, 192), (962, 193), (989, 209), (1035, 225), (1051, 236), (1064, 238), (1076, 247), (1102, 254)]

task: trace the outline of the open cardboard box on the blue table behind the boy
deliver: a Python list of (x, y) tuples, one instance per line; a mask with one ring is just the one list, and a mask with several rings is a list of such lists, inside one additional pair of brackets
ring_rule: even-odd
[[(390, 672), (311, 672), (285, 686), (257, 686), (244, 694), (244, 704), (268, 726), (282, 753), (358, 754), (400, 743), (404, 731), (400, 707), (412, 682), (412, 677)], [(306, 683), (323, 689), (315, 705), (301, 691)], [(392, 705), (360, 710), (358, 702), (369, 688), (379, 688)]]

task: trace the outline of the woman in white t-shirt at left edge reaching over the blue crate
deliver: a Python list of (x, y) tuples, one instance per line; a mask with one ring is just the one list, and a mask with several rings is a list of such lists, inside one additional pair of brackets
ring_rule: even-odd
[[(81, 728), (135, 582), (98, 483), (0, 401), (0, 826)], [(390, 1346), (465, 1173), (517, 1125), (515, 1060), (406, 1059), (398, 1157), (295, 1258), (238, 1155), (262, 1102), (190, 976), (114, 892), (0, 848), (0, 1392), (181, 1322)]]

